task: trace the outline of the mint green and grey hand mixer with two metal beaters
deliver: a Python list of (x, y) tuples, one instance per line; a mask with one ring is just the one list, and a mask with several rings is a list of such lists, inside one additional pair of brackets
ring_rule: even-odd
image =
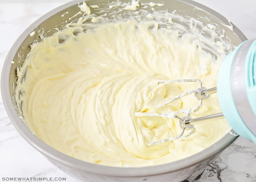
[[(147, 116), (173, 117), (178, 119), (182, 131), (176, 137), (152, 142), (148, 146), (173, 141), (182, 136), (187, 137), (195, 132), (194, 124), (224, 117), (237, 134), (256, 143), (256, 40), (244, 41), (226, 56), (219, 69), (217, 87), (207, 89), (197, 79), (163, 81), (163, 83), (166, 82), (198, 82), (200, 87), (196, 90), (186, 91), (159, 105), (159, 107), (165, 106), (185, 95), (195, 94), (199, 100), (199, 106), (194, 108), (194, 111), (197, 111), (202, 107), (203, 99), (207, 99), (211, 94), (218, 91), (222, 113), (194, 119), (189, 115), (180, 118), (177, 115), (149, 113)], [(184, 135), (187, 129), (190, 129), (191, 132)]]

